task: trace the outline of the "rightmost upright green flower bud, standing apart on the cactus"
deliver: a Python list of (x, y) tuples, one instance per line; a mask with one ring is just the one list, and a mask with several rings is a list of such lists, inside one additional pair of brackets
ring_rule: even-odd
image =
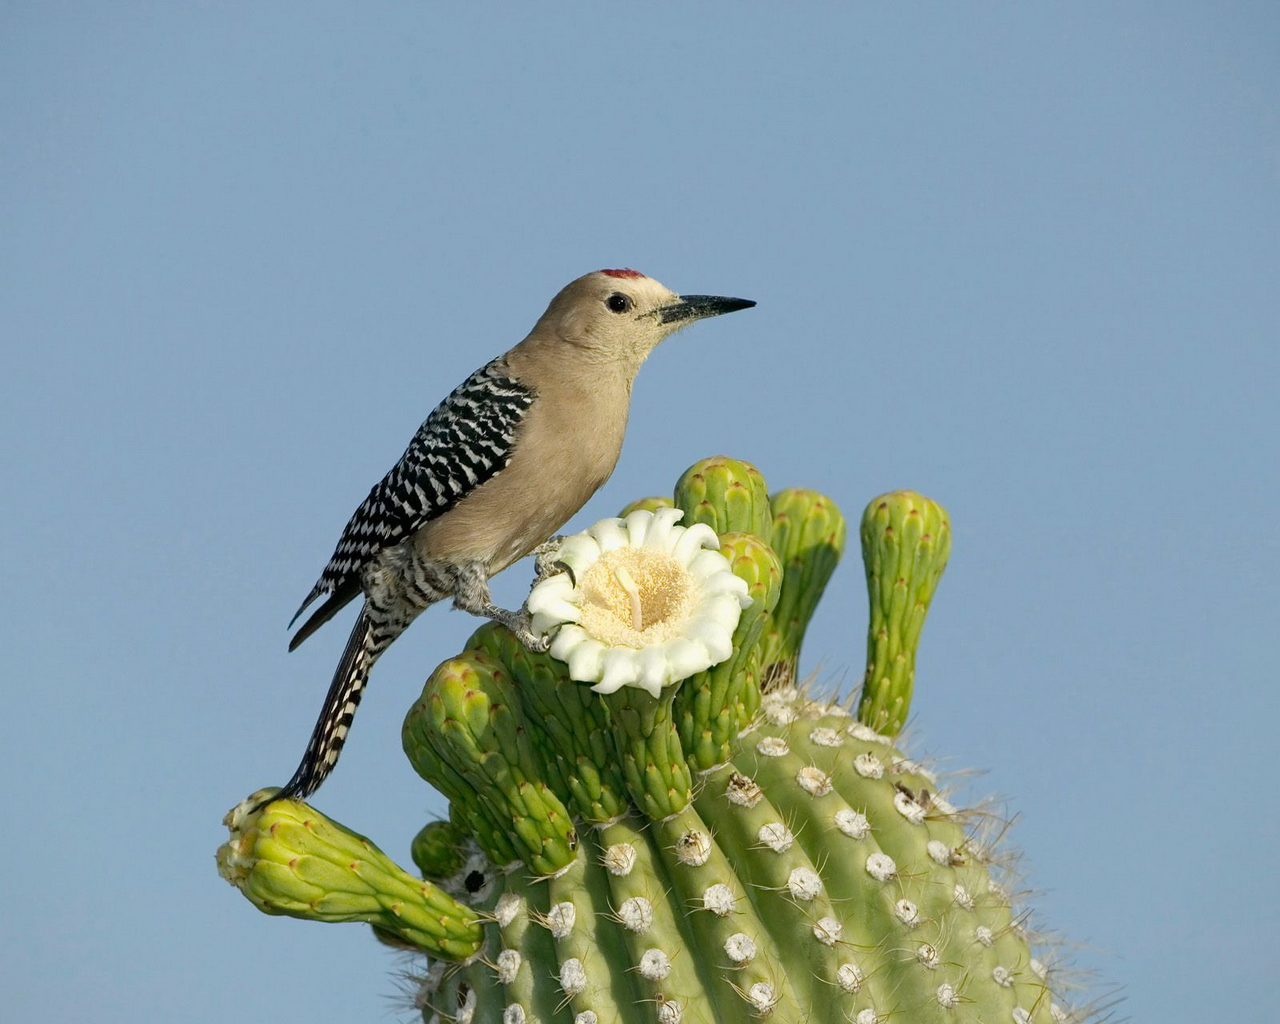
[(882, 494), (860, 529), (870, 625), (858, 721), (896, 736), (911, 707), (915, 652), (951, 553), (946, 509), (913, 490)]

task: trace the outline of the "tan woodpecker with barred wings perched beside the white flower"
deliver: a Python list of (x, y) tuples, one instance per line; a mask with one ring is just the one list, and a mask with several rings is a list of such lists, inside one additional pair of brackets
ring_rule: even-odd
[(436, 406), (352, 515), (289, 622), (328, 595), (293, 635), (294, 650), (364, 596), (302, 763), (274, 799), (306, 799), (324, 782), (370, 668), (429, 605), (452, 598), (545, 649), (526, 613), (493, 604), (489, 577), (531, 553), (547, 570), (553, 534), (613, 472), (631, 384), (658, 343), (754, 305), (677, 296), (637, 270), (598, 270), (561, 289), (520, 344)]

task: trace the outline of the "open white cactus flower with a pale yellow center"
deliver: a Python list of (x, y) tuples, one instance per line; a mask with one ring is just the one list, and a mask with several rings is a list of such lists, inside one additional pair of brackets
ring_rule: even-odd
[(684, 515), (636, 511), (566, 538), (557, 558), (572, 573), (539, 582), (525, 607), (534, 632), (556, 630), (550, 654), (570, 678), (600, 694), (639, 686), (658, 696), (733, 653), (746, 582), (716, 531), (678, 526)]

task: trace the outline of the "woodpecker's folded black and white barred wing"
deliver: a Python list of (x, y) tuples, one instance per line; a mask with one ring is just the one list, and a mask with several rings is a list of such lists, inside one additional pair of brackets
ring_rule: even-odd
[(454, 388), (356, 509), (298, 614), (321, 594), (355, 596), (361, 571), (379, 552), (495, 476), (511, 461), (517, 429), (534, 398), (531, 388), (507, 376), (500, 358)]

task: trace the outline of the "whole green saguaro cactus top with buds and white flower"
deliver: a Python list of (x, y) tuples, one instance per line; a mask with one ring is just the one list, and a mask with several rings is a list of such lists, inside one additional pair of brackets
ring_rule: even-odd
[(270, 791), (228, 815), (220, 872), (265, 913), (413, 951), (426, 1024), (1083, 1021), (998, 829), (895, 741), (941, 506), (863, 516), (856, 713), (796, 677), (845, 532), (822, 494), (696, 463), (566, 541), (527, 603), (547, 654), (489, 623), (428, 678), (402, 739), (449, 814), (416, 872)]

